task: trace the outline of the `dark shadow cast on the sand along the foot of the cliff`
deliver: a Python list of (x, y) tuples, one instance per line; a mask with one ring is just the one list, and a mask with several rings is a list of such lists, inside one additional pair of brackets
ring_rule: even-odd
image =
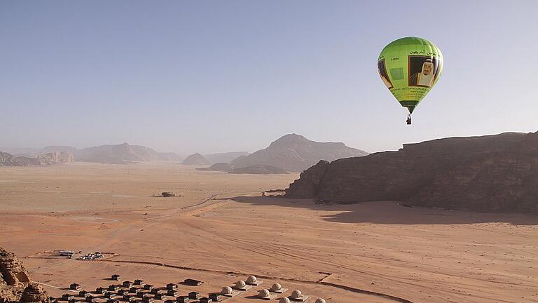
[(327, 212), (320, 215), (328, 222), (375, 224), (471, 224), (508, 223), (538, 225), (538, 215), (519, 213), (474, 213), (461, 210), (406, 207), (394, 201), (355, 204), (320, 204), (312, 199), (294, 199), (265, 196), (236, 196), (222, 198), (253, 206), (281, 206), (282, 208), (308, 208)]

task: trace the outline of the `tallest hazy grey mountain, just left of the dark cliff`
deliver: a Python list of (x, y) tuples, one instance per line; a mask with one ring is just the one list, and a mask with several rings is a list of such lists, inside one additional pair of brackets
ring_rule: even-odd
[(269, 147), (248, 156), (240, 156), (230, 164), (234, 168), (247, 166), (274, 166), (290, 172), (301, 172), (320, 160), (333, 161), (352, 156), (366, 156), (360, 149), (337, 142), (315, 142), (289, 134), (271, 143)]

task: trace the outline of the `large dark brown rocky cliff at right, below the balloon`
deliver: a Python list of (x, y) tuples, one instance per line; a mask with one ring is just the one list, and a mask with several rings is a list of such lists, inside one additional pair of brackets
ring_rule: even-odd
[(398, 152), (320, 162), (290, 184), (286, 195), (538, 213), (538, 133), (451, 137), (404, 144)]

